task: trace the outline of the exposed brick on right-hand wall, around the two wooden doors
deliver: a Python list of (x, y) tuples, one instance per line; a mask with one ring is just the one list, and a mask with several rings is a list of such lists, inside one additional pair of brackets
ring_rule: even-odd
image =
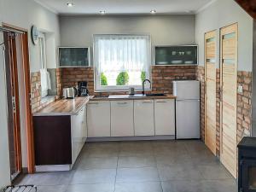
[[(201, 81), (201, 139), (205, 137), (204, 67), (197, 67), (196, 79)], [(237, 93), (237, 143), (244, 136), (250, 136), (252, 127), (252, 73), (238, 71), (237, 86), (243, 87)], [(220, 155), (220, 70), (216, 69), (216, 152)]]

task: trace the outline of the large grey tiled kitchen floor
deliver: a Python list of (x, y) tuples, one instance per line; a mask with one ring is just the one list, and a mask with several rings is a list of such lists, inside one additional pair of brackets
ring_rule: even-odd
[(236, 192), (236, 181), (200, 141), (86, 143), (72, 172), (19, 184), (39, 192)]

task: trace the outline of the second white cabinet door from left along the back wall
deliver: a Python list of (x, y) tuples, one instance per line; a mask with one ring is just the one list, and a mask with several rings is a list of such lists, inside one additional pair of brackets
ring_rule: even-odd
[(111, 102), (111, 137), (132, 137), (133, 101), (120, 100)]

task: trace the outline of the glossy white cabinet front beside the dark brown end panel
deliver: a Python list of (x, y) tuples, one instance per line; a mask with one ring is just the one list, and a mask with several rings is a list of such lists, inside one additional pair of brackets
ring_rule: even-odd
[(86, 108), (71, 116), (72, 162), (78, 158), (87, 138)]

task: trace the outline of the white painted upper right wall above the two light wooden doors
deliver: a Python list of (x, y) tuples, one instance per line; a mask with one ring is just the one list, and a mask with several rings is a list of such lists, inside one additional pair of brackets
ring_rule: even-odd
[[(204, 65), (204, 33), (238, 23), (238, 70), (252, 71), (253, 19), (234, 0), (217, 0), (196, 15), (199, 64)], [(219, 50), (218, 50), (219, 53)]]

